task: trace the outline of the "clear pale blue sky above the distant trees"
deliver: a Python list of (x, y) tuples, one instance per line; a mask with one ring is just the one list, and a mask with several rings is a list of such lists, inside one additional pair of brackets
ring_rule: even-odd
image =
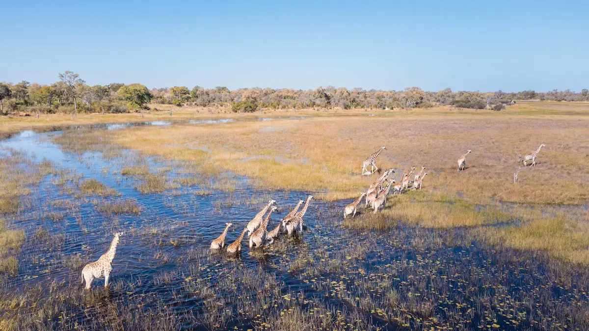
[(589, 88), (589, 1), (0, 0), (0, 81)]

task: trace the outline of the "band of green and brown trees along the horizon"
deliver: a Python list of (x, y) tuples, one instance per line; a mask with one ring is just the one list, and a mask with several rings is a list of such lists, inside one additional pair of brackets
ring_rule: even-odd
[(552, 90), (535, 92), (479, 92), (423, 91), (408, 87), (401, 91), (348, 90), (332, 86), (315, 90), (289, 88), (154, 88), (141, 84), (108, 85), (85, 84), (80, 75), (65, 71), (54, 84), (40, 85), (21, 81), (18, 84), (0, 83), (0, 113), (17, 112), (131, 112), (147, 110), (147, 104), (172, 104), (182, 107), (228, 107), (236, 112), (252, 112), (261, 108), (429, 108), (435, 105), (452, 105), (457, 108), (503, 110), (516, 100), (589, 101), (589, 91)]

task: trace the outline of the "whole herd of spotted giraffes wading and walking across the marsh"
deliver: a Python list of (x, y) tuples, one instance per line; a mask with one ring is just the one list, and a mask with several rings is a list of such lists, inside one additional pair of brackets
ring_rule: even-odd
[[(528, 161), (531, 161), (530, 167), (536, 165), (536, 157), (542, 147), (545, 147), (545, 144), (540, 144), (537, 150), (532, 152), (531, 154), (525, 155), (522, 157), (519, 153), (517, 153), (518, 163), (522, 161), (524, 167), (528, 166)], [(382, 146), (378, 151), (370, 155), (363, 163), (362, 163), (362, 175), (370, 175), (375, 173), (378, 170), (376, 166), (376, 158), (386, 147)], [(472, 150), (466, 151), (465, 154), (458, 159), (458, 172), (461, 170), (466, 170), (466, 156), (472, 153)], [(370, 166), (370, 170), (367, 170), (366, 167)], [(387, 197), (391, 191), (393, 191), (393, 195), (398, 193), (401, 194), (405, 190), (409, 190), (411, 186), (412, 190), (421, 190), (423, 184), (423, 178), (428, 174), (425, 171), (425, 167), (421, 167), (419, 173), (415, 174), (413, 177), (413, 181), (411, 181), (411, 175), (415, 173), (415, 167), (411, 167), (408, 171), (403, 173), (403, 177), (400, 183), (395, 183), (395, 180), (391, 177), (392, 174), (395, 173), (395, 170), (392, 168), (385, 170), (382, 176), (380, 176), (375, 182), (370, 184), (368, 190), (366, 192), (360, 193), (360, 196), (353, 201), (352, 203), (345, 206), (343, 211), (343, 218), (345, 219), (348, 216), (355, 217), (356, 213), (358, 213), (358, 206), (360, 205), (362, 198), (365, 198), (365, 208), (371, 207), (373, 209), (373, 213), (377, 213), (379, 208), (386, 206)], [(519, 170), (514, 173), (514, 183), (517, 183), (517, 174)], [(391, 178), (389, 178), (391, 177)], [(229, 227), (231, 227), (232, 223), (225, 223), (226, 227), (223, 230), (223, 233), (217, 238), (211, 241), (211, 250), (222, 250), (226, 247), (227, 253), (238, 253), (241, 251), (241, 242), (243, 241), (243, 237), (245, 236), (246, 232), (248, 233), (249, 238), (249, 247), (253, 249), (254, 247), (260, 248), (264, 245), (272, 244), (274, 240), (281, 234), (287, 233), (292, 235), (295, 231), (303, 231), (303, 216), (309, 208), (309, 202), (313, 199), (313, 196), (308, 196), (307, 200), (305, 201), (305, 206), (303, 209), (299, 211), (300, 205), (303, 204), (303, 200), (299, 200), (296, 206), (283, 217), (282, 220), (279, 221), (277, 226), (270, 232), (267, 231), (267, 226), (271, 220), (271, 215), (274, 210), (276, 210), (276, 200), (269, 200), (266, 206), (259, 211), (259, 213), (254, 216), (254, 218), (247, 223), (244, 227), (243, 231), (241, 231), (240, 236), (229, 246), (225, 245), (225, 238), (227, 236), (227, 231), (229, 231)], [(270, 209), (270, 212), (266, 214), (266, 212)], [(266, 217), (264, 217), (266, 215)], [(104, 277), (104, 287), (108, 287), (108, 279), (110, 277), (110, 273), (112, 271), (112, 260), (115, 257), (117, 252), (117, 246), (120, 240), (120, 237), (123, 235), (121, 232), (114, 233), (114, 238), (111, 241), (111, 245), (106, 253), (102, 254), (100, 259), (95, 262), (88, 263), (82, 269), (82, 284), (85, 282), (85, 289), (90, 289), (92, 281), (95, 278)]]

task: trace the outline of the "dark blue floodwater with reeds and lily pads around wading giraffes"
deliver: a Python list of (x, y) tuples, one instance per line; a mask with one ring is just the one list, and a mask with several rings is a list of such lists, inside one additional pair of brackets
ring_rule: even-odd
[[(96, 130), (124, 130), (129, 125), (134, 124)], [(77, 323), (88, 329), (133, 325), (128, 320), (115, 327), (108, 318), (112, 306), (117, 316), (165, 310), (181, 329), (264, 329), (284, 318), (281, 312), (293, 313), (295, 306), (310, 319), (306, 329), (316, 328), (313, 319), (319, 318), (315, 316), (321, 309), (331, 316), (331, 327), (324, 329), (583, 330), (589, 326), (586, 270), (557, 268), (541, 254), (485, 249), (469, 240), (465, 230), (402, 225), (388, 231), (348, 230), (342, 225), (341, 211), (350, 201), (312, 201), (306, 230), (283, 236), (263, 250), (247, 248), (246, 237), (237, 258), (211, 253), (210, 242), (227, 221), (233, 223), (226, 239), (229, 244), (270, 198), (277, 200), (279, 210), (269, 230), (309, 193), (254, 190), (245, 178), (228, 174), (235, 183), (231, 191), (195, 185), (141, 194), (140, 177), (120, 174), (137, 160), (154, 173), (166, 173), (168, 181), (191, 175), (183, 174), (182, 164), (144, 158), (134, 151), (123, 151), (114, 159), (98, 152), (65, 153), (51, 142), (59, 134), (67, 131), (24, 131), (2, 141), (0, 147), (27, 151), (37, 161), (50, 160), (58, 169), (98, 180), (118, 195), (76, 197), (55, 184), (59, 176), (49, 176), (21, 211), (8, 217), (25, 229), (27, 242), (19, 256), (18, 276), (6, 277), (4, 287), (18, 293), (40, 284), (48, 291), (49, 284), (57, 283), (54, 286), (64, 293), (79, 293), (64, 299), (67, 316), (41, 321), (45, 328), (73, 329)], [(104, 214), (97, 207), (105, 201), (133, 201), (141, 212)], [(51, 217), (56, 213), (61, 217)], [(39, 234), (39, 229), (46, 234)], [(99, 279), (92, 284), (93, 292), (84, 294), (81, 267), (108, 249), (115, 231), (124, 235), (113, 262), (110, 290), (104, 292), (104, 280)], [(340, 314), (347, 324), (335, 323)]]

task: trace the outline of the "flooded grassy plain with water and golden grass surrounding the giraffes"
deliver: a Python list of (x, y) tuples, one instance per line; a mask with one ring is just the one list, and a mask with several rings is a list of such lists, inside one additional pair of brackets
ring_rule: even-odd
[[(0, 329), (586, 330), (589, 110), (373, 114), (2, 141)], [(541, 142), (514, 184), (514, 150)], [(379, 168), (426, 166), (422, 190), (343, 220), (382, 144)], [(232, 242), (269, 199), (270, 228), (310, 193), (302, 233), (207, 249), (227, 221)], [(84, 292), (82, 267), (120, 230), (110, 288)]]

